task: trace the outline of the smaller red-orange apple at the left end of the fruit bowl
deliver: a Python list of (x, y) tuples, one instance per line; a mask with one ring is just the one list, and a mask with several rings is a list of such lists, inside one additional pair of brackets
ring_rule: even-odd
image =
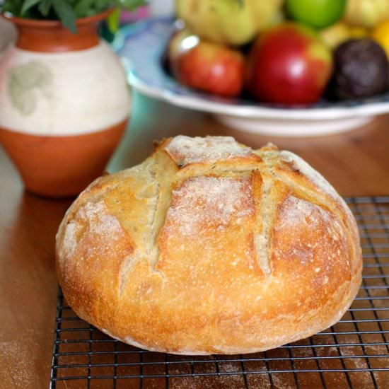
[(245, 60), (238, 50), (183, 30), (173, 35), (168, 57), (171, 73), (186, 86), (224, 97), (242, 91)]

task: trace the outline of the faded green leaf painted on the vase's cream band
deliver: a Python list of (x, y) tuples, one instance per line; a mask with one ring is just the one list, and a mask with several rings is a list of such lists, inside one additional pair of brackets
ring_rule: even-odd
[(13, 66), (8, 70), (7, 92), (11, 103), (22, 115), (31, 115), (39, 95), (52, 95), (52, 73), (38, 61)]

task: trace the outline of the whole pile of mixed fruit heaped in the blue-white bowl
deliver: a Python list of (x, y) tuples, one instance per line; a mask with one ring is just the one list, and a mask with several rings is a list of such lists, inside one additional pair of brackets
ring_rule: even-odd
[(176, 0), (167, 48), (180, 83), (224, 97), (310, 105), (389, 87), (389, 0)]

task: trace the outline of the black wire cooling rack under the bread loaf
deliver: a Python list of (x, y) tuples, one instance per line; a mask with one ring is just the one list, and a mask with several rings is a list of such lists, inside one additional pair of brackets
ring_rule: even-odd
[(50, 388), (389, 388), (389, 197), (350, 197), (364, 277), (342, 320), (313, 337), (245, 355), (147, 352), (79, 319), (59, 291)]

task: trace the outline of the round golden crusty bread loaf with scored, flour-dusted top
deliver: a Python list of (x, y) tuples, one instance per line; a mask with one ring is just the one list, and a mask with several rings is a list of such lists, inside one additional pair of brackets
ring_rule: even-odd
[(231, 137), (165, 139), (95, 180), (57, 234), (64, 296), (122, 342), (258, 352), (324, 330), (361, 284), (356, 223), (306, 162)]

